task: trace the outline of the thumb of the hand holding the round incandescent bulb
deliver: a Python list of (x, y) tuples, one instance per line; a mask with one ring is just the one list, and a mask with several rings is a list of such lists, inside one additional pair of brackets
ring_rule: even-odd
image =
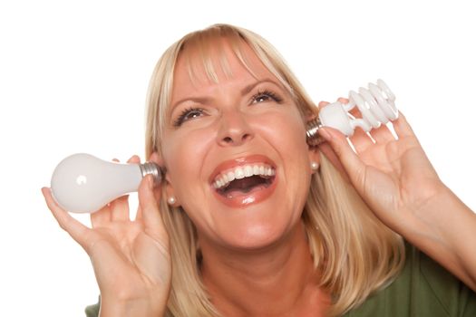
[(151, 175), (147, 175), (141, 181), (139, 205), (141, 207), (141, 217), (148, 234), (158, 239), (167, 236), (157, 200), (154, 197), (153, 178)]

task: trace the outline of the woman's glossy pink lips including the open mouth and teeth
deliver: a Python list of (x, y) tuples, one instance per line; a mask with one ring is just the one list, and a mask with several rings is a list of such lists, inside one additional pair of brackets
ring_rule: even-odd
[(277, 185), (276, 164), (263, 155), (225, 161), (214, 169), (209, 183), (228, 207), (248, 207), (271, 196)]

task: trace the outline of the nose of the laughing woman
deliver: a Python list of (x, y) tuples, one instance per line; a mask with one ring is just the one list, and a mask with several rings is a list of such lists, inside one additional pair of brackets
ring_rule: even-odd
[(253, 139), (254, 134), (245, 115), (240, 111), (223, 113), (219, 122), (217, 141), (221, 146), (239, 146)]

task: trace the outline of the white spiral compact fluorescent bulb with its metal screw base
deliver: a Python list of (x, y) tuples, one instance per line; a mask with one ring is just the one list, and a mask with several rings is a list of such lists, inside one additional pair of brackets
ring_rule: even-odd
[[(347, 137), (350, 137), (357, 127), (368, 132), (389, 120), (396, 120), (398, 110), (394, 101), (395, 95), (382, 80), (378, 80), (377, 84), (369, 83), (368, 89), (361, 87), (358, 93), (350, 91), (348, 103), (330, 103), (319, 110), (318, 117), (315, 120), (307, 123), (307, 143), (315, 146), (321, 142), (317, 133), (317, 130), (321, 127), (340, 130)], [(359, 110), (362, 118), (354, 118), (348, 113), (355, 107)]]

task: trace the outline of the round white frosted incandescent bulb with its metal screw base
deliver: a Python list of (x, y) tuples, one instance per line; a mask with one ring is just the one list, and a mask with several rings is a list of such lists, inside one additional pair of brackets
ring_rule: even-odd
[(141, 179), (154, 176), (160, 182), (160, 168), (154, 163), (120, 164), (89, 154), (73, 154), (53, 171), (53, 198), (64, 210), (92, 213), (117, 197), (137, 191)]

